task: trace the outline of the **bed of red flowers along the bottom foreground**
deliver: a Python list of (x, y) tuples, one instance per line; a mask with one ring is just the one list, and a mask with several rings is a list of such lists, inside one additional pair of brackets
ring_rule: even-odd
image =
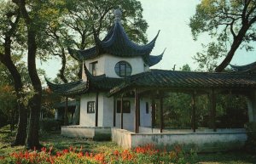
[(53, 148), (41, 151), (26, 150), (14, 152), (10, 156), (0, 156), (0, 163), (9, 164), (61, 164), (61, 163), (195, 163), (194, 152), (185, 153), (180, 146), (173, 150), (157, 150), (148, 144), (134, 150), (113, 150), (112, 152), (84, 152), (83, 148), (70, 147), (53, 153)]

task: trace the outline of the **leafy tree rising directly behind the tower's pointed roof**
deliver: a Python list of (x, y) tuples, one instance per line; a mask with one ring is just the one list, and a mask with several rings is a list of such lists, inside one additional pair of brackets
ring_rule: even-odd
[[(62, 10), (61, 17), (47, 28), (47, 33), (50, 42), (55, 42), (55, 49), (50, 51), (51, 54), (61, 57), (62, 67), (58, 77), (62, 82), (68, 82), (74, 76), (67, 76), (65, 71), (73, 71), (81, 78), (81, 63), (74, 62), (73, 59), (68, 59), (67, 47), (71, 48), (90, 48), (94, 45), (94, 35), (102, 37), (106, 34), (113, 25), (113, 9), (121, 8), (123, 11), (124, 28), (128, 31), (129, 37), (135, 42), (147, 42), (145, 32), (148, 24), (143, 20), (143, 8), (137, 0), (104, 0), (104, 1), (68, 1), (62, 0), (61, 6), (57, 8), (65, 8)], [(95, 33), (94, 33), (95, 30)], [(72, 67), (67, 65), (68, 62), (73, 62)], [(78, 65), (79, 64), (79, 65)], [(76, 70), (76, 71), (75, 71)], [(79, 70), (79, 72), (78, 72)]]

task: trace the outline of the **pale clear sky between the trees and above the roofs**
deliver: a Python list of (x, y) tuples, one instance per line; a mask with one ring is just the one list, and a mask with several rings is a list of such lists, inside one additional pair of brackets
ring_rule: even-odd
[[(201, 52), (201, 43), (208, 42), (208, 37), (203, 36), (195, 42), (189, 28), (189, 18), (195, 14), (195, 6), (200, 0), (139, 0), (143, 7), (143, 18), (148, 22), (148, 42), (157, 32), (160, 35), (156, 40), (152, 55), (159, 55), (166, 48), (163, 59), (153, 69), (172, 70), (176, 65), (179, 70), (183, 65), (189, 64), (192, 70), (198, 64), (192, 59), (197, 52)], [(255, 51), (247, 53), (238, 50), (230, 62), (232, 65), (247, 65), (256, 61)], [(55, 78), (61, 68), (60, 59), (54, 59), (42, 66), (46, 75)]]

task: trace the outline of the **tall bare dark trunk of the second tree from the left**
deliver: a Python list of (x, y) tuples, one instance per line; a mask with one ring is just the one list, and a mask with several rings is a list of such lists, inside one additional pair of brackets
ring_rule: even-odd
[(39, 117), (41, 110), (41, 99), (42, 99), (42, 84), (38, 76), (37, 66), (36, 66), (36, 53), (37, 53), (37, 42), (36, 42), (36, 29), (33, 27), (33, 22), (26, 11), (26, 1), (19, 0), (15, 1), (18, 4), (20, 13), (24, 20), (26, 21), (27, 27), (27, 68), (28, 73), (32, 82), (32, 87), (35, 94), (32, 96), (29, 102), (30, 117), (29, 117), (29, 127), (27, 135), (27, 148), (39, 149), (41, 144), (39, 144)]

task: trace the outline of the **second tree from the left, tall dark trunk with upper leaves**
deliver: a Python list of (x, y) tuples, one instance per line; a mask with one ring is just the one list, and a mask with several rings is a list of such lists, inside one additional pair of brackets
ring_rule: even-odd
[[(40, 5), (42, 3), (32, 3), (29, 2), (30, 8), (27, 9), (27, 3), (25, 0), (13, 0), (20, 10), (20, 14), (25, 21), (26, 33), (27, 33), (27, 68), (30, 80), (32, 82), (32, 88), (34, 94), (29, 100), (30, 108), (30, 119), (27, 135), (27, 147), (28, 148), (40, 148), (38, 138), (39, 129), (39, 115), (41, 109), (41, 98), (42, 98), (42, 84), (38, 76), (37, 66), (36, 66), (36, 55), (38, 50), (38, 42), (41, 36), (39, 35), (40, 30), (44, 25), (44, 19), (40, 16)], [(42, 19), (42, 20), (41, 20)]]

